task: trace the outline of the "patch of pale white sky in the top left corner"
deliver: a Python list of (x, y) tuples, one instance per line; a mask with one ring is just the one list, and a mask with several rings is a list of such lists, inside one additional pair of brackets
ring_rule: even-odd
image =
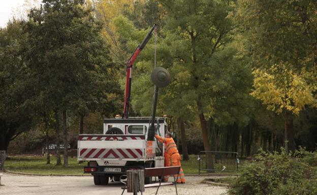
[(21, 15), (25, 7), (39, 4), (38, 2), (37, 0), (0, 0), (0, 27), (5, 27), (13, 16)]

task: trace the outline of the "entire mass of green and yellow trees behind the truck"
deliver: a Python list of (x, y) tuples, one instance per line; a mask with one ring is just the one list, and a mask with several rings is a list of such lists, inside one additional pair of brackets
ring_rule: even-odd
[(204, 150), (313, 150), (316, 10), (311, 0), (43, 0), (0, 29), (0, 149), (34, 125), (67, 143), (121, 113), (126, 61), (155, 23), (133, 67), (131, 115), (150, 114), (156, 50), (172, 76), (156, 114), (182, 146), (195, 131)]

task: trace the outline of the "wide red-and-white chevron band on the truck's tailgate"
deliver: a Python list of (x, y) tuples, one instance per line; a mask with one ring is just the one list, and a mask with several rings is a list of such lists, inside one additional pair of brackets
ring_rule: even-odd
[(140, 159), (143, 157), (142, 149), (139, 148), (81, 148), (79, 158), (108, 158), (108, 159)]

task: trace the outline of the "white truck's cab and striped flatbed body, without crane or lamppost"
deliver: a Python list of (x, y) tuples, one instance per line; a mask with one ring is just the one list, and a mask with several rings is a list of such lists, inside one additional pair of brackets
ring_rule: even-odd
[[(119, 181), (127, 170), (164, 167), (164, 145), (147, 141), (150, 120), (105, 119), (104, 134), (79, 135), (78, 160), (88, 161), (84, 173), (93, 175), (95, 185), (107, 185), (109, 178)], [(157, 134), (164, 137), (166, 118), (155, 118), (155, 122)], [(150, 178), (145, 182), (149, 183)]]

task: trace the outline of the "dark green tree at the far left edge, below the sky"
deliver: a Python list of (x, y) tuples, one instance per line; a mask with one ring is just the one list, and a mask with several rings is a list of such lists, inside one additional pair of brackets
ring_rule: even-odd
[(21, 59), (20, 47), (25, 38), (20, 21), (9, 21), (0, 29), (0, 150), (33, 125), (35, 82)]

